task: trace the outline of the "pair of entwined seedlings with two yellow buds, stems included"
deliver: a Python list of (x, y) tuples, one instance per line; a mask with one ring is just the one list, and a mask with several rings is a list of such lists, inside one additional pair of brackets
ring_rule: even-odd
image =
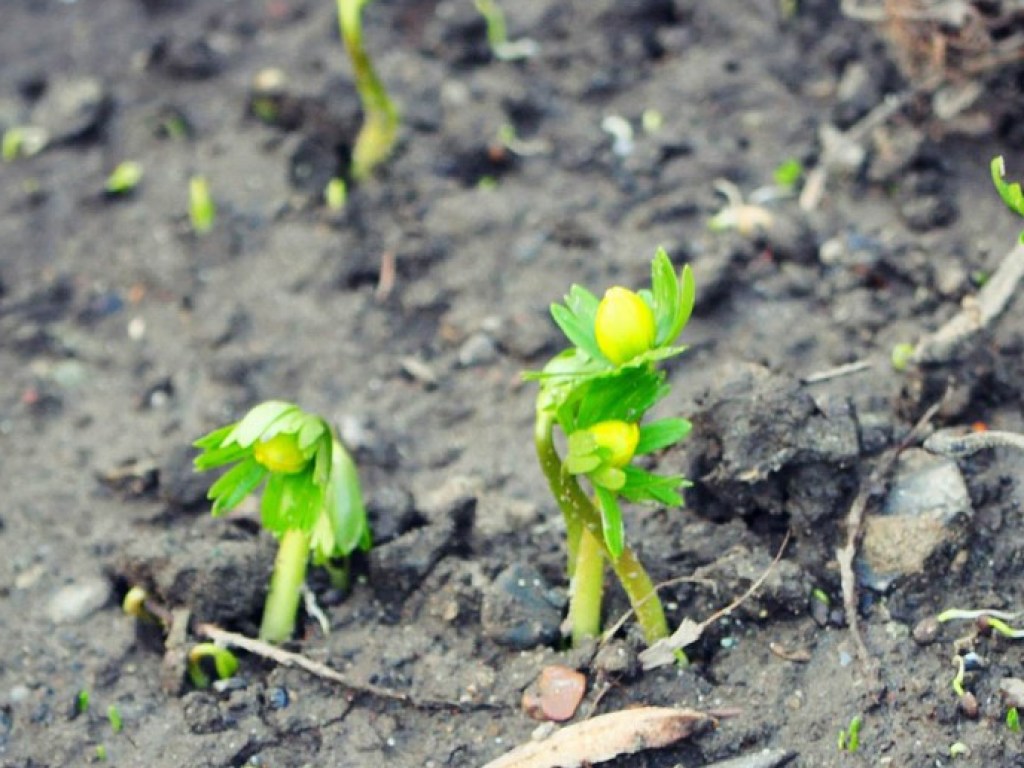
[[(626, 544), (622, 501), (682, 504), (680, 475), (656, 475), (637, 467), (636, 457), (674, 444), (690, 431), (685, 419), (643, 424), (647, 412), (669, 392), (656, 364), (681, 353), (675, 341), (693, 309), (689, 267), (677, 275), (664, 250), (651, 264), (651, 290), (608, 289), (600, 301), (572, 286), (564, 304), (551, 308), (572, 344), (543, 371), (534, 441), (541, 469), (565, 518), (569, 623), (573, 643), (601, 629), (604, 564), (618, 578), (647, 643), (669, 634), (650, 578)], [(566, 452), (555, 445), (555, 428)], [(589, 485), (592, 496), (584, 490)]]

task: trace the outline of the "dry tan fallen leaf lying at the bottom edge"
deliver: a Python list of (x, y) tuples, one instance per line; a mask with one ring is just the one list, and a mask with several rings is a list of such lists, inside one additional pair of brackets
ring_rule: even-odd
[(580, 768), (620, 755), (668, 746), (715, 723), (695, 710), (642, 707), (600, 715), (517, 746), (483, 768)]

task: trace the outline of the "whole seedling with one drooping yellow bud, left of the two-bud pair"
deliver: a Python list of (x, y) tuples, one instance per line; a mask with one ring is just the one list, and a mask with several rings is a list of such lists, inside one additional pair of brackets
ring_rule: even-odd
[[(306, 564), (326, 565), (339, 585), (348, 556), (371, 545), (355, 464), (324, 419), (297, 406), (268, 400), (242, 421), (201, 437), (196, 469), (233, 465), (210, 487), (214, 516), (237, 507), (265, 482), (263, 527), (280, 541), (260, 639), (292, 636)], [(332, 569), (341, 560), (340, 568)]]

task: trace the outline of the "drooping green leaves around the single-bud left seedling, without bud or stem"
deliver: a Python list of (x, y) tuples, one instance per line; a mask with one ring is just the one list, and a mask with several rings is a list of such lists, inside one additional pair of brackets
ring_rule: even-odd
[[(298, 471), (273, 471), (257, 459), (258, 443), (279, 435), (294, 437), (302, 460)], [(310, 534), (314, 562), (370, 549), (355, 465), (321, 417), (290, 402), (268, 400), (195, 444), (201, 449), (197, 470), (231, 465), (207, 495), (215, 516), (237, 507), (265, 482), (260, 501), (263, 527), (279, 538), (291, 529)]]

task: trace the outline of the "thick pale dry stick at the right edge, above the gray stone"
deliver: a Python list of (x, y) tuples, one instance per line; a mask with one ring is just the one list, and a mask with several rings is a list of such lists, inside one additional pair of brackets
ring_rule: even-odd
[(1018, 243), (978, 291), (964, 300), (964, 308), (913, 350), (915, 362), (948, 362), (964, 345), (988, 328), (1002, 313), (1024, 279), (1024, 243)]

